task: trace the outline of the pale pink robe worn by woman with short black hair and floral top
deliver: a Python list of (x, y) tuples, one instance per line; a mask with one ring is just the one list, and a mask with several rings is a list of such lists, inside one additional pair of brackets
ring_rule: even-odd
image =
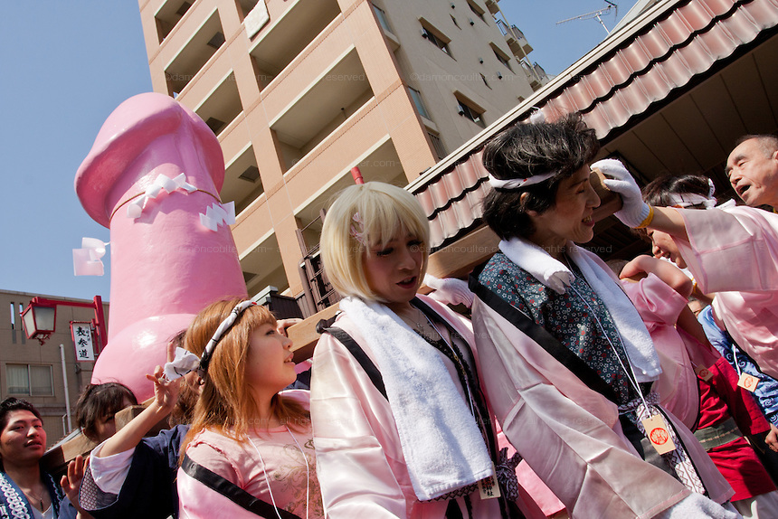
[[(647, 519), (690, 494), (675, 477), (640, 458), (621, 430), (612, 401), (479, 297), (473, 304), (473, 326), (490, 409), (519, 454), (573, 517)], [(674, 423), (710, 498), (726, 502), (732, 488), (694, 435)]]

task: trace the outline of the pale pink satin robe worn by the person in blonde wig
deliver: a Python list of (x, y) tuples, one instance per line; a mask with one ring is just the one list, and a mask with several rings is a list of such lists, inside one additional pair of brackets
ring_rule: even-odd
[[(429, 297), (420, 298), (469, 344), (474, 344), (469, 323), (464, 318)], [(334, 326), (351, 335), (381, 369), (346, 314), (338, 316)], [(473, 354), (476, 354), (474, 348)], [(459, 387), (453, 364), (448, 358), (441, 358)], [(310, 409), (327, 517), (445, 516), (447, 501), (422, 502), (416, 498), (389, 402), (375, 389), (346, 347), (328, 334), (319, 339), (313, 358)], [(500, 517), (497, 499), (481, 500), (478, 491), (470, 494), (470, 499), (473, 517)], [(521, 505), (521, 508), (524, 511), (530, 506)]]

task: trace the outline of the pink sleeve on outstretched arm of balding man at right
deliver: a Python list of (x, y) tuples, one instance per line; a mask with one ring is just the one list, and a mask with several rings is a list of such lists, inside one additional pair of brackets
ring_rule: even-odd
[(704, 292), (762, 292), (778, 286), (778, 214), (751, 207), (678, 213), (689, 240), (676, 244)]

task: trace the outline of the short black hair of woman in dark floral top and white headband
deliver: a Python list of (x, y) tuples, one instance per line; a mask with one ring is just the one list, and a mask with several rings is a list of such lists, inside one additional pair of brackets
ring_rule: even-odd
[[(519, 123), (499, 133), (484, 146), (483, 165), (490, 175), (499, 180), (555, 175), (515, 190), (493, 189), (483, 200), (484, 221), (502, 240), (532, 235), (535, 227), (527, 211), (554, 207), (562, 180), (589, 164), (598, 151), (594, 130), (577, 112), (552, 123)], [(527, 196), (522, 200), (523, 193)]]

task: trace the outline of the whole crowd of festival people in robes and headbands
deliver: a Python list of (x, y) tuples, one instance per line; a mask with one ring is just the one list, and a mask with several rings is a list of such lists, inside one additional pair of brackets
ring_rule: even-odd
[[(578, 114), (487, 143), (499, 250), (456, 297), (418, 293), (430, 231), (412, 194), (346, 188), (320, 241), (343, 299), (309, 389), (290, 322), (215, 302), (127, 426), (132, 392), (85, 390), (99, 445), (60, 481), (39, 466), (40, 413), (3, 401), (0, 517), (778, 517), (778, 139), (728, 157), (745, 205), (699, 175), (641, 191), (599, 152)], [(586, 250), (593, 169), (653, 256)]]

